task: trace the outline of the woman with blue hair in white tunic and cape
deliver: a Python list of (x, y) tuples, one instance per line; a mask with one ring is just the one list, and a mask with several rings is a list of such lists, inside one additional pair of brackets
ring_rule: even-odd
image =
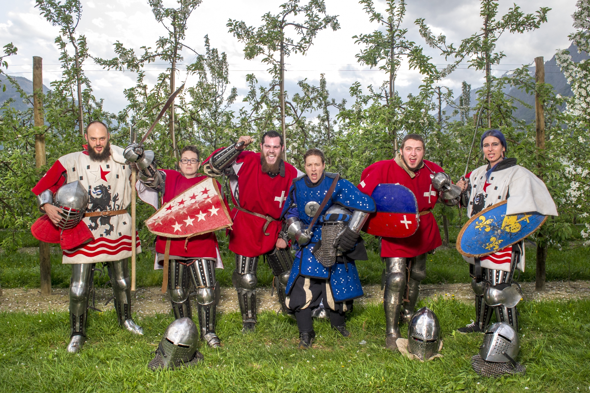
[[(506, 138), (501, 131), (490, 129), (481, 135), (481, 151), (487, 164), (457, 181), (464, 190), (461, 205), (467, 207), (467, 216), (478, 215), (483, 209), (507, 200), (506, 214), (539, 212), (546, 216), (558, 215), (555, 203), (545, 183), (531, 171), (517, 165), (516, 158), (507, 158)], [(495, 311), (498, 322), (511, 324), (518, 332), (516, 305), (488, 305), (484, 291), (494, 288), (502, 291), (512, 286), (514, 271), (525, 271), (524, 241), (499, 249), (494, 254), (473, 258), (469, 262), (471, 287), (476, 294), (476, 320), (458, 330), (460, 333), (483, 333)], [(480, 267), (480, 268), (478, 268)]]

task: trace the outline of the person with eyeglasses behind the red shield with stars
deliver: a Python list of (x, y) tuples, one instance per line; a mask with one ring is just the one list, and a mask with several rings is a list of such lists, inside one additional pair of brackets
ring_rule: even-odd
[[(195, 145), (188, 145), (181, 151), (180, 171), (158, 170), (155, 177), (142, 176), (140, 181), (147, 187), (138, 190), (139, 197), (148, 202), (146, 194), (162, 192), (162, 204), (170, 202), (179, 194), (207, 176), (198, 174), (199, 150)], [(221, 185), (217, 183), (218, 189)], [(156, 196), (157, 198), (157, 196)], [(224, 199), (227, 209), (227, 200)], [(152, 205), (156, 203), (151, 203)], [(161, 206), (161, 205), (160, 205)], [(156, 207), (156, 206), (155, 206)], [(166, 248), (165, 236), (156, 238), (157, 259), (154, 268), (162, 269)], [(186, 245), (185, 245), (186, 242)], [(219, 347), (219, 337), (215, 333), (215, 268), (223, 268), (219, 245), (214, 232), (186, 238), (171, 238), (168, 262), (168, 294), (172, 300), (172, 310), (176, 319), (192, 319), (189, 287), (191, 281), (196, 288), (196, 303), (201, 329), (201, 337), (212, 348)], [(189, 281), (190, 280), (190, 281)]]

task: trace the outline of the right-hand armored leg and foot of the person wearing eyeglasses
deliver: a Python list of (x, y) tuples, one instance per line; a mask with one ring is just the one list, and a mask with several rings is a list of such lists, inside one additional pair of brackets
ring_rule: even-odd
[(215, 261), (196, 259), (191, 264), (191, 278), (196, 288), (197, 313), (201, 337), (210, 347), (219, 347), (219, 337), (215, 333)]

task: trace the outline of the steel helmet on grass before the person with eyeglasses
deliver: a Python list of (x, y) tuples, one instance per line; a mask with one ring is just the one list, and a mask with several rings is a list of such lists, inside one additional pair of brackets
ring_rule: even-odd
[(156, 350), (156, 357), (149, 362), (151, 369), (175, 368), (194, 365), (203, 359), (196, 348), (199, 329), (189, 318), (180, 318), (166, 327), (162, 341)]

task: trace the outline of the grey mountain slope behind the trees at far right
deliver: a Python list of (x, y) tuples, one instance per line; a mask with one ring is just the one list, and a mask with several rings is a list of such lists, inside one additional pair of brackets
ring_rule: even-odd
[[(581, 60), (589, 59), (585, 53), (578, 53), (578, 49), (572, 44), (569, 48), (569, 54), (572, 56), (573, 61), (578, 63)], [(535, 75), (535, 68), (536, 67), (529, 67), (530, 72), (532, 75)], [(545, 61), (545, 83), (550, 83), (555, 89), (556, 93), (559, 93), (562, 96), (571, 96), (572, 89), (568, 85), (568, 81), (565, 79), (565, 76), (559, 69), (555, 61), (555, 55), (548, 61)], [(477, 92), (480, 90), (481, 87), (477, 87), (476, 89), (471, 90), (471, 107), (473, 108), (477, 101)], [(510, 87), (510, 89), (506, 89), (506, 94), (509, 96), (514, 97), (515, 99), (520, 99), (523, 102), (526, 102), (529, 105), (533, 106), (533, 109), (526, 108), (520, 102), (514, 102), (514, 106), (516, 106), (516, 111), (514, 111), (514, 117), (517, 119), (523, 119), (527, 122), (532, 122), (535, 120), (535, 96), (529, 95), (525, 92), (525, 90), (519, 90), (516, 87)], [(459, 99), (457, 98), (455, 104), (459, 105)], [(453, 113), (454, 108), (451, 106), (446, 106), (443, 111), (446, 111), (448, 115)], [(473, 115), (473, 112), (470, 113)], [(453, 116), (450, 120), (459, 120), (459, 115)]]

